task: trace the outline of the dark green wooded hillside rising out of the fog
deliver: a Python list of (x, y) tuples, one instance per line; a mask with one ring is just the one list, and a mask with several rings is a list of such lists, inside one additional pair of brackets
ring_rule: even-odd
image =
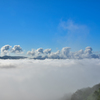
[[(66, 99), (67, 100), (67, 99)], [(77, 90), (71, 100), (100, 100), (100, 84)]]

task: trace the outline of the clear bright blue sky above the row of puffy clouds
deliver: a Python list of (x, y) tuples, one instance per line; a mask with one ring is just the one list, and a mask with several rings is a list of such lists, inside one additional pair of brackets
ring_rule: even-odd
[(100, 51), (99, 38), (99, 0), (0, 0), (0, 47)]

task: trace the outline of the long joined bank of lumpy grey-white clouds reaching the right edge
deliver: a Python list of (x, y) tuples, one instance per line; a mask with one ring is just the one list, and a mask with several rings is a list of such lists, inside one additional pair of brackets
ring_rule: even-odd
[(62, 50), (56, 52), (51, 52), (51, 49), (42, 48), (37, 50), (32, 50), (27, 52), (28, 55), (31, 55), (33, 59), (85, 59), (85, 58), (100, 58), (100, 54), (95, 54), (92, 51), (91, 47), (86, 47), (85, 50), (79, 50), (77, 52), (71, 52), (70, 47), (64, 47)]

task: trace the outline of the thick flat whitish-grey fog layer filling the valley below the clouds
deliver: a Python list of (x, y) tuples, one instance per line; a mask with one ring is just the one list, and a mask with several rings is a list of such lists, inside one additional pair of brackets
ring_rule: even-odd
[(100, 82), (100, 60), (0, 60), (0, 100), (58, 100)]

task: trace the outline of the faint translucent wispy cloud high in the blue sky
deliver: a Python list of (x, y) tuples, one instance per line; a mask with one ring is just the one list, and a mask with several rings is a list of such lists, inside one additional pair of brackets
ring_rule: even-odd
[(82, 23), (75, 23), (73, 20), (61, 22), (58, 25), (58, 32), (55, 40), (62, 46), (81, 47), (88, 40), (89, 28)]

